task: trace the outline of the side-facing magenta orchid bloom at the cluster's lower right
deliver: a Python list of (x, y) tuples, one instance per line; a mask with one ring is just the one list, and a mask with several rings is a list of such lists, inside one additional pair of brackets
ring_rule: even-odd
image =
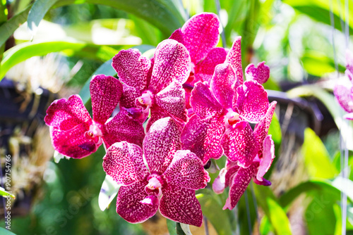
[(237, 205), (251, 179), (256, 184), (264, 186), (271, 184), (263, 176), (268, 172), (275, 158), (275, 144), (271, 135), (268, 135), (275, 106), (275, 102), (271, 103), (268, 112), (261, 118), (254, 130), (245, 121), (237, 122), (234, 127), (227, 129), (223, 141), (232, 141), (232, 144), (226, 145), (229, 148), (226, 148), (225, 152), (238, 155), (237, 159), (250, 158), (251, 164), (245, 168), (240, 167), (237, 162), (227, 160), (225, 168), (220, 171), (219, 176), (213, 182), (215, 193), (222, 193), (225, 187), (229, 186), (229, 197), (223, 210), (227, 208), (232, 210)]

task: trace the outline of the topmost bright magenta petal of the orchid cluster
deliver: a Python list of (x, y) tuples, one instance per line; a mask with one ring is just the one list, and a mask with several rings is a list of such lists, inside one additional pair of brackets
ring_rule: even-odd
[[(220, 20), (214, 13), (201, 13), (193, 15), (183, 27), (181, 27), (181, 34), (183, 41), (190, 52), (191, 61), (197, 64), (207, 55), (210, 49), (215, 47), (220, 39), (218, 31), (220, 27)], [(180, 33), (174, 32), (174, 38), (178, 39)], [(177, 37), (178, 34), (178, 37)], [(179, 41), (180, 42), (180, 41)]]

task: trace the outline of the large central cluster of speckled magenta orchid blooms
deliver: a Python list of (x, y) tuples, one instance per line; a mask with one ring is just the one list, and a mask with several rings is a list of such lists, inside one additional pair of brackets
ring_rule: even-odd
[[(80, 96), (59, 99), (47, 110), (56, 151), (83, 158), (104, 144), (104, 171), (121, 187), (116, 212), (131, 223), (160, 213), (200, 227), (196, 190), (208, 186), (210, 159), (227, 157), (213, 183), (229, 186), (223, 209), (232, 210), (253, 179), (263, 178), (275, 158), (268, 135), (276, 102), (263, 83), (264, 62), (241, 67), (241, 37), (231, 49), (215, 47), (220, 21), (213, 13), (189, 19), (161, 42), (152, 58), (137, 49), (112, 59), (119, 79), (90, 82), (92, 118)], [(110, 118), (119, 104), (119, 113)], [(144, 124), (145, 123), (145, 128)]]

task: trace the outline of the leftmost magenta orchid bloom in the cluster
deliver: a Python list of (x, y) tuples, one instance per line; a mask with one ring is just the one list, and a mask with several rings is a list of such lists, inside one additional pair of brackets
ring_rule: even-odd
[(107, 148), (116, 141), (130, 141), (141, 146), (145, 136), (143, 127), (126, 110), (120, 110), (107, 122), (121, 93), (122, 86), (116, 78), (105, 75), (92, 77), (93, 119), (78, 95), (54, 101), (44, 118), (50, 127), (54, 149), (71, 158), (83, 158), (97, 151), (103, 142)]

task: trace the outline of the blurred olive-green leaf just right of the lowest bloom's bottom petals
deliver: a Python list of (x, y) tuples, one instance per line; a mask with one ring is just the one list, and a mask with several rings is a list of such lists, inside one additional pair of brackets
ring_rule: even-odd
[(232, 234), (231, 217), (229, 217), (230, 211), (222, 210), (223, 203), (220, 200), (220, 196), (208, 189), (203, 189), (202, 192), (197, 194), (196, 198), (198, 198), (201, 204), (203, 215), (213, 225), (217, 234)]

